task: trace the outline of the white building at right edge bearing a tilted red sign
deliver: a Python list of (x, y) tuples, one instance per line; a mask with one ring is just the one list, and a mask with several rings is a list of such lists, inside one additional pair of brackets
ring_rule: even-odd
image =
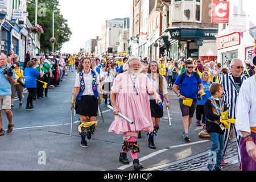
[[(229, 24), (219, 23), (217, 35), (218, 62), (239, 58), (249, 60), (256, 39), (255, 0), (229, 0)], [(232, 23), (232, 19), (234, 22)], [(230, 21), (231, 20), (231, 21)], [(245, 30), (230, 31), (239, 25)], [(226, 57), (225, 57), (226, 56)]]

